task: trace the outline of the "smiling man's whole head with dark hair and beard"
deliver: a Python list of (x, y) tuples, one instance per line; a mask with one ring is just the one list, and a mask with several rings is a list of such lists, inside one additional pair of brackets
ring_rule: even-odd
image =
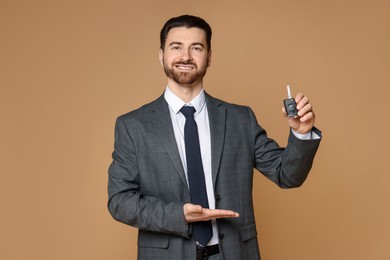
[(199, 17), (175, 17), (166, 22), (160, 39), (159, 60), (171, 85), (201, 86), (211, 61), (210, 26)]

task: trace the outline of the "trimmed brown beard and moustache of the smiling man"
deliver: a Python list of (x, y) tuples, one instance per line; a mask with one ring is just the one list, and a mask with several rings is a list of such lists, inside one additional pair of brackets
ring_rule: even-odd
[[(189, 72), (176, 71), (175, 66), (180, 64), (192, 65), (195, 69), (194, 71)], [(207, 66), (204, 66), (198, 70), (196, 64), (192, 62), (176, 62), (172, 67), (168, 67), (164, 62), (164, 72), (168, 78), (174, 80), (178, 84), (191, 85), (203, 79), (207, 72)]]

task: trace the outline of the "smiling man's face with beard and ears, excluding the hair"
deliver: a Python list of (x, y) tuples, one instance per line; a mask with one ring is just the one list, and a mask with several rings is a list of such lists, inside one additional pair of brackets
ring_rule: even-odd
[(210, 64), (206, 34), (199, 28), (172, 28), (160, 50), (159, 59), (165, 74), (180, 85), (201, 82)]

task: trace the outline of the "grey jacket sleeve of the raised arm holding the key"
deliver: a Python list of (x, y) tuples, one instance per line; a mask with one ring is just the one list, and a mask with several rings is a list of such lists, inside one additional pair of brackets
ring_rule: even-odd
[(286, 148), (267, 137), (251, 109), (252, 133), (254, 140), (254, 167), (281, 188), (295, 188), (306, 180), (313, 164), (314, 156), (321, 141), (321, 132), (313, 128), (321, 138), (301, 140), (290, 130)]

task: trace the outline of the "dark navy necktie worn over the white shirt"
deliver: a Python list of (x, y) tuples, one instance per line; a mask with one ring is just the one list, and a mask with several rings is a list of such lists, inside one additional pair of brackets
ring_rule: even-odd
[[(206, 182), (200, 154), (199, 135), (194, 120), (195, 108), (184, 106), (180, 109), (186, 117), (184, 125), (184, 141), (187, 158), (187, 175), (190, 185), (191, 202), (209, 208), (207, 200)], [(192, 237), (201, 245), (206, 246), (213, 235), (210, 221), (199, 221), (192, 223)]]

